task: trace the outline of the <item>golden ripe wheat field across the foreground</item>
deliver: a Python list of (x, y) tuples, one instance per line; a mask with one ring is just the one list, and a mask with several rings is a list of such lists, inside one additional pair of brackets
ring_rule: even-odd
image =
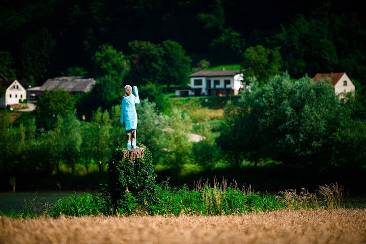
[(0, 217), (1, 244), (365, 244), (366, 210), (242, 216)]

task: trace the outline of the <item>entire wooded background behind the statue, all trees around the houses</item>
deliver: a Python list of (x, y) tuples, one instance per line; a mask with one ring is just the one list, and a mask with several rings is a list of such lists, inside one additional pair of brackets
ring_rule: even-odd
[[(124, 140), (125, 84), (141, 94), (138, 140), (164, 167), (237, 170), (247, 160), (312, 173), (365, 169), (363, 2), (4, 0), (0, 9), (5, 77), (24, 87), (60, 75), (97, 81), (86, 95), (46, 92), (36, 111), (15, 122), (4, 111), (3, 186), (21, 174), (105, 171), (102, 162)], [(230, 98), (216, 131), (204, 121), (192, 128), (192, 118), (162, 94), (187, 85), (192, 72), (221, 65), (240, 65), (252, 92)], [(335, 99), (330, 86), (312, 82), (330, 72), (346, 72), (356, 96)], [(206, 140), (188, 143), (192, 129)], [(10, 146), (15, 140), (18, 147)]]

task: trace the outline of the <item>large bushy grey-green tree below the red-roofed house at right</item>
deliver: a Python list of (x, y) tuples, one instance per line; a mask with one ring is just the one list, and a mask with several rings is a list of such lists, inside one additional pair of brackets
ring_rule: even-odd
[(276, 75), (242, 95), (237, 112), (225, 117), (218, 144), (227, 149), (224, 145), (231, 140), (237, 154), (254, 162), (271, 158), (320, 169), (334, 156), (333, 133), (350, 118), (342, 104), (326, 81)]

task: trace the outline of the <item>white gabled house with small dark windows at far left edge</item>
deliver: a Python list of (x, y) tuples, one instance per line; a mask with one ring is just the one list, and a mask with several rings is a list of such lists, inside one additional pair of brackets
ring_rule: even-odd
[(18, 104), (20, 100), (26, 99), (26, 91), (18, 80), (6, 80), (3, 75), (0, 75), (0, 82), (2, 88), (0, 91), (0, 108)]

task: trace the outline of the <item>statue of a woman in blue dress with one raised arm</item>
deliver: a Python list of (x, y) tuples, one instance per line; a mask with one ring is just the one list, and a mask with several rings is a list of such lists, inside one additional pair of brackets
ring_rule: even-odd
[(137, 113), (136, 106), (140, 103), (137, 86), (126, 85), (123, 89), (121, 103), (121, 124), (124, 123), (127, 138), (127, 150), (136, 147)]

